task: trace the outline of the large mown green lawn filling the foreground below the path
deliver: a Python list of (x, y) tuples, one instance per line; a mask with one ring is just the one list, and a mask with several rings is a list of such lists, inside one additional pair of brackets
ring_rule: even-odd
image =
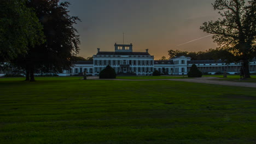
[(256, 89), (0, 79), (0, 143), (256, 143)]

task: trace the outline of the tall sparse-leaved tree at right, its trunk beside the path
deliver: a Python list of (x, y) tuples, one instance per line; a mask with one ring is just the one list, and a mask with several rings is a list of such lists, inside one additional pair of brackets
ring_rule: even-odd
[(219, 10), (222, 19), (204, 22), (200, 29), (211, 33), (219, 49), (232, 53), (230, 61), (242, 61), (245, 77), (249, 75), (249, 61), (256, 55), (256, 1), (216, 0), (214, 10)]

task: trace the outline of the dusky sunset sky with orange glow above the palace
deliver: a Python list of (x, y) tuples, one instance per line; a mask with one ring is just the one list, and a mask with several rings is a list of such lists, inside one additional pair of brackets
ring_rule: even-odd
[(68, 2), (71, 3), (69, 14), (78, 16), (82, 21), (75, 25), (81, 41), (78, 56), (86, 58), (95, 55), (97, 48), (114, 51), (115, 43), (123, 44), (123, 33), (124, 43), (132, 43), (133, 51), (144, 52), (149, 49), (155, 59), (168, 57), (168, 50), (171, 49), (205, 51), (217, 47), (211, 35), (206, 37), (209, 34), (200, 29), (203, 22), (215, 21), (219, 17), (211, 4), (214, 0)]

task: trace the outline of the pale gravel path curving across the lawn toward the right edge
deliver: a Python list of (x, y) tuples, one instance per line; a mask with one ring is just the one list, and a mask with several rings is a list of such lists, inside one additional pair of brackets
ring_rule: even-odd
[(125, 80), (125, 79), (98, 79), (98, 76), (90, 76), (88, 80), (114, 80), (114, 81), (185, 81), (195, 83), (208, 83), (213, 85), (224, 86), (237, 86), (237, 87), (254, 87), (256, 88), (256, 82), (236, 82), (236, 81), (224, 81), (218, 80), (218, 77), (199, 77), (194, 79), (152, 79), (152, 80)]

